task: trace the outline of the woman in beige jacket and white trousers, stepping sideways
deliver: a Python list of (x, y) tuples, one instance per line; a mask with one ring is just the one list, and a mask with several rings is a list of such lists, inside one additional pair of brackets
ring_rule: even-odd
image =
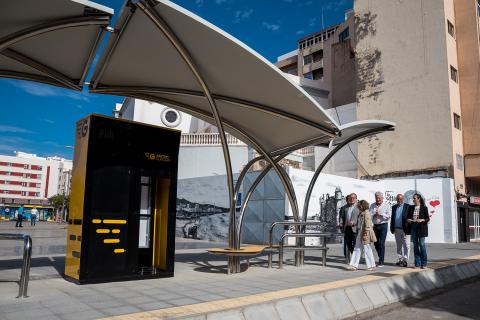
[(375, 258), (373, 256), (371, 242), (376, 242), (375, 233), (372, 228), (372, 217), (368, 212), (369, 204), (365, 200), (358, 202), (358, 221), (356, 224), (357, 238), (355, 241), (355, 248), (353, 249), (352, 259), (350, 265), (347, 268), (349, 271), (355, 271), (358, 269), (362, 251), (365, 253), (365, 264), (368, 271), (375, 270)]

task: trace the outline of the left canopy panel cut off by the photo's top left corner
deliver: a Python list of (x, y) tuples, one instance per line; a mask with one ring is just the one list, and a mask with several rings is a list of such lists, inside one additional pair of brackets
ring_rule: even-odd
[(0, 77), (82, 90), (113, 10), (86, 0), (0, 3)]

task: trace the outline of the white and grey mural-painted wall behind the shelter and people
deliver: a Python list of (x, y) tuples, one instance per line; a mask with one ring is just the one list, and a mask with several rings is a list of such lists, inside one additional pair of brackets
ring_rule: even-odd
[[(248, 174), (243, 193), (247, 191), (251, 180), (257, 174)], [(301, 213), (313, 172), (290, 169), (289, 175)], [(390, 205), (395, 204), (396, 195), (399, 193), (404, 194), (406, 201), (412, 204), (413, 194), (419, 192), (425, 198), (430, 212), (431, 220), (427, 242), (451, 243), (457, 241), (456, 205), (451, 179), (365, 181), (322, 174), (313, 190), (308, 216), (324, 222), (325, 229), (334, 231), (337, 228), (338, 210), (345, 204), (346, 195), (355, 192), (358, 199), (373, 203), (376, 191), (383, 192), (385, 201)], [(243, 234), (245, 242), (265, 242), (271, 222), (282, 220), (282, 217), (285, 216), (292, 216), (291, 208), (285, 199), (280, 181), (273, 173), (267, 175), (264, 183), (259, 185), (257, 192), (252, 197), (246, 211)], [(176, 231), (178, 237), (225, 242), (228, 222), (228, 191), (225, 176), (179, 180)], [(387, 241), (394, 241), (393, 235), (389, 234)]]

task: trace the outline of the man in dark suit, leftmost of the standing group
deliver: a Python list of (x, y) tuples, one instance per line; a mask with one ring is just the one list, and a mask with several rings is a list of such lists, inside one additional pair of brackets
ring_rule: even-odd
[(352, 193), (347, 196), (347, 204), (340, 208), (339, 227), (343, 232), (343, 254), (347, 263), (355, 248), (356, 233), (354, 226), (358, 219), (357, 195)]

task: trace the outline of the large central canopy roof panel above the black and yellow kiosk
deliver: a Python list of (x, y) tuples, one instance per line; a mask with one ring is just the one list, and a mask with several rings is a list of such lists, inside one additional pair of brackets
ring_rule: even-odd
[[(179, 54), (178, 42), (230, 134), (247, 143), (253, 139), (270, 153), (307, 141), (328, 145), (343, 135), (325, 110), (278, 68), (170, 1), (128, 1), (115, 30), (93, 74), (91, 92), (156, 101), (214, 123), (204, 88)], [(371, 126), (390, 129), (393, 123), (369, 122)]]

